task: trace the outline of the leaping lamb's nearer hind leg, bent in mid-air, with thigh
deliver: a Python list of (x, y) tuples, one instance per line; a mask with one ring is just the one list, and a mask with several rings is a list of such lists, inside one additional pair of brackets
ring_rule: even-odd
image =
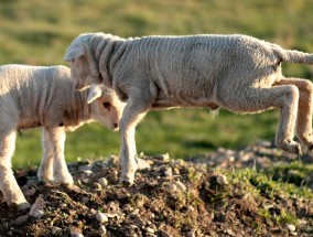
[(279, 108), (280, 118), (276, 137), (277, 146), (290, 153), (301, 153), (301, 146), (293, 140), (299, 101), (298, 87), (293, 85), (270, 88), (249, 87), (240, 93), (238, 90), (229, 91), (227, 97), (220, 100), (220, 106), (236, 112), (253, 114), (272, 107)]

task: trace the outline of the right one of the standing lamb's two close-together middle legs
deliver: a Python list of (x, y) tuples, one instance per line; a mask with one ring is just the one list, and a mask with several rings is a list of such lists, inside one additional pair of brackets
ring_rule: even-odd
[(65, 144), (65, 128), (55, 127), (46, 128), (48, 133), (48, 140), (53, 151), (53, 176), (54, 181), (60, 184), (72, 185), (74, 183), (71, 173), (68, 172), (65, 157), (64, 157), (64, 144)]

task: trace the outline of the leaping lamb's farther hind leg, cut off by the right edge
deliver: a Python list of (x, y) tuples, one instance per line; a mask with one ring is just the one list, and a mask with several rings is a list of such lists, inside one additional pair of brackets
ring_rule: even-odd
[(313, 84), (309, 79), (283, 78), (276, 85), (294, 85), (299, 89), (299, 106), (296, 118), (296, 134), (301, 142), (313, 150), (312, 114), (313, 114)]

